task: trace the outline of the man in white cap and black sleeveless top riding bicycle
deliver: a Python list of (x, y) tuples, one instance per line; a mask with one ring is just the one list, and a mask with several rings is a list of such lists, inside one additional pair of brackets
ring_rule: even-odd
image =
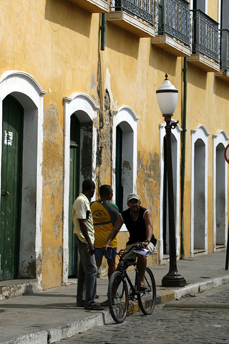
[[(126, 251), (132, 246), (138, 246), (139, 248), (149, 250), (152, 254), (155, 249), (156, 239), (153, 235), (151, 211), (141, 206), (141, 201), (137, 194), (129, 194), (127, 196), (127, 205), (128, 209), (119, 214), (114, 229), (108, 236), (105, 245), (102, 247), (102, 251), (107, 251), (107, 247), (117, 235), (122, 225), (125, 224), (129, 231), (129, 240), (127, 241)], [(131, 250), (126, 254), (125, 260), (134, 259), (135, 261), (136, 256), (138, 258), (139, 267), (139, 289), (144, 290), (147, 288), (144, 284), (144, 275), (147, 265), (146, 256), (136, 254)]]

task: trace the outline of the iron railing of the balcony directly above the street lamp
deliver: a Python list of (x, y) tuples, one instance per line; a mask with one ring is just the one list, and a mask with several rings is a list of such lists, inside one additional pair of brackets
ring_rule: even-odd
[(189, 46), (189, 2), (186, 0), (159, 0), (158, 34), (169, 34)]

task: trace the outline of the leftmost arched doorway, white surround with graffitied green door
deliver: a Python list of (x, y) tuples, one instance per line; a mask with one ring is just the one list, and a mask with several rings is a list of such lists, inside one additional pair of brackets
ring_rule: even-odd
[[(13, 197), (13, 199), (14, 192), (9, 192), (9, 197), (1, 197), (0, 204), (2, 216), (4, 206), (8, 207), (7, 202), (10, 202), (11, 208), (13, 203), (16, 210), (14, 212), (13, 209), (16, 214), (13, 236), (18, 238), (16, 253), (12, 254), (12, 249), (11, 252), (7, 250), (12, 261), (15, 262), (14, 256), (17, 257), (17, 262), (13, 264), (12, 274), (5, 275), (4, 280), (12, 278), (34, 279), (33, 286), (36, 286), (36, 290), (41, 288), (42, 281), (42, 146), (43, 95), (45, 93), (46, 91), (41, 88), (37, 81), (25, 72), (9, 71), (0, 76), (0, 125), (3, 125), (3, 128), (0, 128), (0, 135), (3, 134), (3, 137), (0, 137), (1, 194), (7, 192), (9, 186), (8, 180), (6, 181), (7, 185), (5, 184), (4, 176), (8, 169), (8, 162), (13, 160), (10, 156), (8, 157), (9, 148), (13, 147), (15, 143), (18, 146), (18, 152), (17, 154), (15, 152), (14, 155), (14, 166), (15, 169), (17, 166), (18, 170), (13, 171), (12, 168), (10, 171), (15, 178), (14, 187), (17, 197)], [(7, 111), (10, 117), (6, 120)], [(17, 123), (12, 125), (11, 120), (15, 114)], [(19, 120), (21, 121), (20, 124)], [(8, 124), (6, 124), (7, 121)], [(21, 134), (19, 135), (19, 133)], [(8, 152), (5, 155), (6, 146)], [(12, 199), (13, 202), (11, 203)], [(14, 220), (14, 215), (11, 216), (11, 220)], [(1, 219), (0, 222), (2, 222)], [(0, 232), (2, 232), (2, 224)], [(10, 236), (7, 237), (7, 240), (8, 238)], [(2, 249), (2, 242), (0, 245)], [(4, 263), (6, 263), (5, 260)]]

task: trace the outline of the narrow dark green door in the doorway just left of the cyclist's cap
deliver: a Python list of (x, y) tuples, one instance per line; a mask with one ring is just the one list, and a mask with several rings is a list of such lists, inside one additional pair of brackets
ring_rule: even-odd
[(123, 132), (119, 125), (116, 128), (116, 160), (115, 160), (115, 204), (119, 211), (123, 210), (122, 160)]

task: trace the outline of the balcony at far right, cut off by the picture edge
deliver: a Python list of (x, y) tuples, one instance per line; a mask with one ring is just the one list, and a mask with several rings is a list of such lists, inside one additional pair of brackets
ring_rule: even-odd
[(217, 77), (220, 77), (229, 82), (229, 30), (220, 30), (220, 71), (215, 73)]

